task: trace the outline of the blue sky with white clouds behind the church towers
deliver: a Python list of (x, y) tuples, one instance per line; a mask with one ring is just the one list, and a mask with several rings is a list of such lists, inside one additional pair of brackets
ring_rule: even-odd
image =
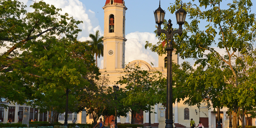
[[(24, 4), (29, 5), (33, 2), (28, 0), (20, 0)], [(89, 33), (93, 33), (96, 30), (100, 31), (103, 36), (103, 18), (104, 10), (102, 7), (105, 5), (106, 0), (44, 0), (50, 5), (54, 5), (57, 8), (61, 8), (61, 14), (68, 13), (76, 20), (83, 21), (79, 25), (82, 32), (79, 33), (78, 39), (81, 41), (89, 40)], [(183, 2), (190, 2), (191, 0), (183, 0)], [(198, 3), (198, 0), (195, 0)], [(227, 3), (232, 0), (223, 0), (221, 8), (227, 8)], [(175, 0), (161, 0), (161, 8), (166, 11), (165, 19), (171, 19), (173, 27), (177, 28), (175, 14), (170, 14), (168, 7), (170, 3), (174, 3)], [(252, 0), (254, 6), (256, 1)], [(159, 6), (158, 0), (125, 0), (126, 10), (126, 50), (125, 50), (125, 62), (131, 62), (133, 60), (141, 59), (148, 63), (152, 62), (155, 67), (158, 66), (158, 55), (151, 52), (149, 49), (145, 49), (145, 42), (149, 41), (153, 44), (158, 42), (158, 39), (153, 33), (155, 28), (155, 19), (153, 11)], [(28, 11), (31, 10), (28, 8)], [(256, 12), (255, 7), (252, 7), (252, 12)], [(186, 19), (187, 22), (190, 22)], [(202, 26), (203, 27), (203, 26)], [(204, 28), (202, 28), (204, 29)], [(254, 43), (255, 46), (255, 43)], [(224, 53), (219, 49), (220, 53)], [(180, 63), (184, 60), (179, 59)], [(186, 59), (191, 65), (194, 64), (193, 59)], [(103, 67), (103, 57), (98, 59), (98, 66)]]

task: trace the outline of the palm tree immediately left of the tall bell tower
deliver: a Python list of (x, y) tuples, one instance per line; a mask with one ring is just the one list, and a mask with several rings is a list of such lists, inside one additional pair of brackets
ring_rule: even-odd
[(91, 52), (92, 54), (96, 54), (96, 66), (98, 67), (98, 63), (97, 63), (97, 56), (100, 57), (102, 56), (103, 57), (103, 41), (102, 41), (102, 37), (99, 37), (99, 30), (96, 31), (95, 35), (93, 35), (92, 33), (89, 34), (89, 37), (92, 39), (92, 40), (88, 40), (86, 42), (89, 43), (89, 45), (91, 46)]

